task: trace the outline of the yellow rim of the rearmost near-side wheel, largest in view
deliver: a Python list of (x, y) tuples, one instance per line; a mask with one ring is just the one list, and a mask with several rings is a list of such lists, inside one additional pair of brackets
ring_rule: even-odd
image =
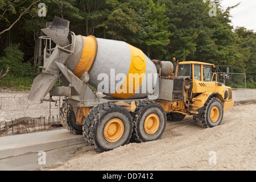
[(121, 119), (111, 119), (104, 127), (104, 138), (111, 143), (117, 142), (122, 137), (124, 130), (125, 126)]

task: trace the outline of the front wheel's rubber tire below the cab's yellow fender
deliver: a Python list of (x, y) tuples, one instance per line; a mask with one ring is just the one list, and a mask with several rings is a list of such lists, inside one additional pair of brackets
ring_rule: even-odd
[[(214, 111), (215, 113), (218, 113), (216, 114), (216, 119), (214, 119)], [(211, 113), (212, 113), (212, 117), (211, 117)], [(224, 114), (224, 111), (223, 111), (223, 105), (221, 101), (216, 97), (212, 97), (207, 102), (207, 105), (205, 106), (204, 112), (201, 115), (201, 117), (193, 116), (193, 121), (196, 123), (196, 125), (201, 127), (205, 127), (205, 128), (214, 127), (214, 126), (220, 125), (223, 118), (223, 114)], [(212, 121), (213, 119), (214, 121)]]

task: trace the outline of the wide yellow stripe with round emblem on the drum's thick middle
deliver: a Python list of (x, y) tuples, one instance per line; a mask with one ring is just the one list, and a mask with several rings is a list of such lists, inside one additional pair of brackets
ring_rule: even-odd
[(146, 57), (144, 53), (128, 44), (131, 51), (131, 63), (127, 77), (120, 88), (111, 96), (127, 99), (133, 96), (142, 84), (146, 72)]

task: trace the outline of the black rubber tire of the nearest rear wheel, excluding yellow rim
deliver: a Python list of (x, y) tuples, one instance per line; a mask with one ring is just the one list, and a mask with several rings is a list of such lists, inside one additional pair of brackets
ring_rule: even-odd
[[(120, 119), (124, 127), (122, 137), (115, 142), (109, 142), (104, 136), (105, 126), (112, 119)], [(94, 147), (98, 152), (104, 152), (129, 142), (133, 131), (133, 119), (125, 108), (107, 102), (94, 106), (89, 111), (85, 117), (82, 129), (82, 134), (90, 146)]]

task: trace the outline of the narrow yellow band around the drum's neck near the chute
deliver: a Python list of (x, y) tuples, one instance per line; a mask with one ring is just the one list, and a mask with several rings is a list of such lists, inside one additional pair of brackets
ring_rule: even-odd
[(72, 71), (79, 78), (81, 78), (85, 72), (90, 71), (97, 53), (97, 40), (93, 35), (82, 36), (82, 39), (84, 40), (82, 55), (79, 63), (77, 63)]

